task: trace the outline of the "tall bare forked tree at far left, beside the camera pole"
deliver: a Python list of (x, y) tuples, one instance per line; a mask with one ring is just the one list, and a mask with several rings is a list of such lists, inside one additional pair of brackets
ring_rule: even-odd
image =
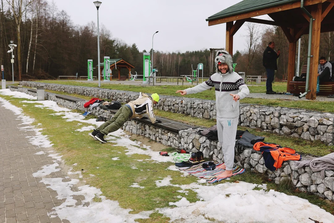
[(21, 60), (21, 34), (20, 34), (20, 25), (23, 13), (27, 10), (27, 6), (33, 2), (34, 0), (30, 0), (28, 2), (23, 3), (23, 0), (7, 0), (8, 4), (12, 8), (13, 15), (16, 23), (16, 34), (17, 34), (17, 60), (18, 60), (18, 68), (19, 68), (19, 81), (21, 81), (22, 74), (22, 60)]

